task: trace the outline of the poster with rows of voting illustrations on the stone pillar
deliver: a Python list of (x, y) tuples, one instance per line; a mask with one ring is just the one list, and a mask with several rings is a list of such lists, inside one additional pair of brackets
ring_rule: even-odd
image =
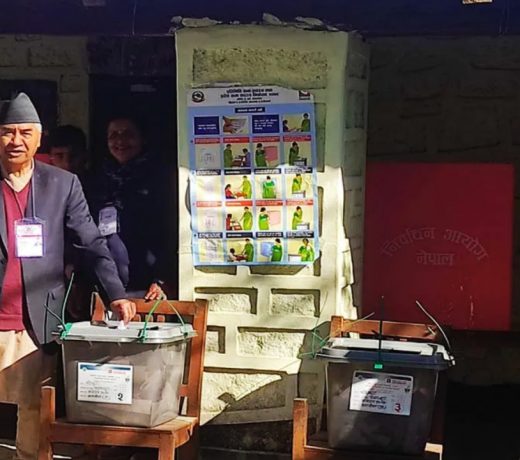
[(311, 94), (188, 91), (195, 265), (303, 265), (319, 255)]

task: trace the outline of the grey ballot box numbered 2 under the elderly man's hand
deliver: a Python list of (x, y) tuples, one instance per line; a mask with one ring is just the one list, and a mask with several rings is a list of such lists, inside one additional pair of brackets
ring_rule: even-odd
[(189, 324), (74, 323), (61, 338), (67, 420), (153, 427), (179, 415)]

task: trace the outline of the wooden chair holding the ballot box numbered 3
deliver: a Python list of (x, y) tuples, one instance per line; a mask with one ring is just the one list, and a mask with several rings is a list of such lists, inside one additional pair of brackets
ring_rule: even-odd
[[(357, 333), (361, 337), (379, 335), (379, 321), (348, 320), (333, 316), (330, 325), (330, 336), (341, 337), (349, 333)], [(434, 325), (384, 322), (382, 336), (385, 339), (410, 340), (425, 342), (440, 342), (441, 334)], [(432, 435), (430, 440), (442, 440), (444, 402), (446, 395), (446, 378), (439, 374), (436, 402), (433, 413)], [(423, 455), (395, 455), (384, 453), (349, 452), (331, 449), (327, 445), (325, 429), (309, 437), (308, 433), (309, 407), (306, 399), (297, 398), (293, 406), (293, 460), (440, 460), (442, 458), (441, 444), (427, 444)], [(326, 420), (326, 413), (324, 414)]]

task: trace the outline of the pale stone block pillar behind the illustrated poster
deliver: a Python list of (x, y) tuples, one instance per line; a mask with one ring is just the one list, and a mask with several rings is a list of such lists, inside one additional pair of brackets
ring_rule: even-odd
[[(318, 419), (323, 366), (301, 360), (325, 337), (334, 314), (355, 316), (361, 269), (368, 50), (355, 35), (269, 26), (218, 26), (177, 33), (180, 297), (210, 300), (203, 422), (247, 423), (234, 443), (251, 447), (259, 422), (292, 419), (308, 397)], [(187, 208), (189, 144), (186, 92), (222, 84), (279, 85), (316, 101), (319, 260), (306, 267), (193, 267)], [(354, 289), (353, 289), (354, 286)], [(254, 422), (254, 423), (253, 423)], [(275, 425), (273, 425), (274, 427)], [(280, 431), (278, 428), (273, 430)], [(254, 429), (253, 429), (254, 428)], [(277, 432), (269, 450), (280, 449)], [(236, 427), (236, 432), (242, 432)], [(220, 446), (230, 447), (215, 434)], [(285, 441), (284, 441), (285, 442)], [(266, 442), (261, 441), (263, 445)], [(232, 447), (232, 446), (231, 446)], [(283, 448), (283, 447), (282, 447)]]

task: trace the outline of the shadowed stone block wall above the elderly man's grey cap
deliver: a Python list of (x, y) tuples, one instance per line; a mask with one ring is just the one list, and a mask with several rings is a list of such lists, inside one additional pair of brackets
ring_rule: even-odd
[(0, 79), (57, 83), (58, 123), (88, 132), (86, 37), (0, 35)]

